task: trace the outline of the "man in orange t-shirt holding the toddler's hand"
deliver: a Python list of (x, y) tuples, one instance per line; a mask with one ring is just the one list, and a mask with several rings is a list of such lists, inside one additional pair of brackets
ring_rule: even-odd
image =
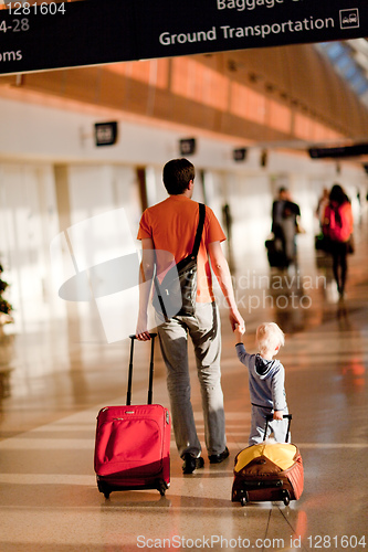
[[(151, 282), (157, 274), (167, 272), (170, 261), (178, 263), (193, 247), (198, 226), (198, 203), (191, 200), (194, 167), (187, 159), (172, 159), (164, 167), (164, 184), (169, 194), (165, 201), (147, 209), (140, 220), (138, 240), (141, 240), (141, 282)], [(225, 442), (223, 395), (221, 389), (220, 317), (214, 302), (211, 269), (219, 280), (229, 306), (230, 323), (244, 328), (234, 299), (228, 262), (221, 244), (225, 238), (211, 209), (206, 208), (202, 238), (198, 252), (198, 288), (193, 316), (174, 316), (165, 319), (156, 312), (157, 331), (167, 368), (167, 386), (171, 405), (172, 427), (177, 448), (183, 459), (182, 471), (192, 474), (201, 468), (201, 445), (197, 435), (190, 401), (188, 365), (188, 335), (196, 353), (204, 416), (204, 439), (210, 464), (219, 464), (229, 456)], [(136, 336), (148, 340), (147, 307), (151, 286), (140, 285), (139, 315)]]

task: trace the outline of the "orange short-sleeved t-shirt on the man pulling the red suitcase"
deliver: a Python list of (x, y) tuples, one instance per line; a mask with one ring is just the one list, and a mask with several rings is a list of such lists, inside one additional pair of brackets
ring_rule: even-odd
[[(169, 195), (165, 201), (146, 209), (143, 213), (137, 238), (150, 237), (153, 240), (157, 274), (160, 280), (174, 259), (175, 263), (179, 263), (192, 252), (198, 217), (198, 203), (186, 195)], [(206, 220), (197, 259), (198, 302), (211, 302), (214, 299), (207, 250), (210, 243), (224, 240), (225, 235), (213, 211), (206, 206)]]

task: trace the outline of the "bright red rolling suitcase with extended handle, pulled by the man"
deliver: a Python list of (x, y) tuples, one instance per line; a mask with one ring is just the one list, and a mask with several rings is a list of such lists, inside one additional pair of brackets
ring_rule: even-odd
[(97, 415), (94, 468), (105, 498), (112, 491), (133, 489), (157, 489), (164, 496), (170, 486), (170, 415), (153, 404), (156, 336), (150, 333), (147, 404), (130, 404), (135, 341), (130, 336), (126, 406), (105, 406)]

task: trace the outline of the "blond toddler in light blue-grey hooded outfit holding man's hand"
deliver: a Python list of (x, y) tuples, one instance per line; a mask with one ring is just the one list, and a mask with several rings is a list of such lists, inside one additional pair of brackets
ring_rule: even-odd
[(249, 389), (252, 404), (252, 422), (249, 444), (262, 443), (264, 437), (266, 415), (273, 414), (269, 423), (269, 433), (273, 431), (277, 443), (285, 443), (287, 432), (286, 393), (284, 388), (285, 369), (274, 359), (280, 348), (285, 343), (285, 336), (274, 322), (261, 323), (256, 329), (255, 341), (257, 354), (249, 354), (242, 342), (242, 332), (238, 326), (234, 329), (235, 349), (239, 360), (249, 371)]

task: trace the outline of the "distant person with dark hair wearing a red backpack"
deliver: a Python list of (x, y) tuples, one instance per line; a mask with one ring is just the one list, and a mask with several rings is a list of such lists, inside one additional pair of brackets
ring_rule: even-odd
[(351, 204), (339, 184), (334, 184), (329, 192), (329, 203), (325, 209), (323, 233), (330, 243), (333, 270), (340, 297), (344, 297), (347, 276), (347, 255), (350, 253), (353, 234)]

